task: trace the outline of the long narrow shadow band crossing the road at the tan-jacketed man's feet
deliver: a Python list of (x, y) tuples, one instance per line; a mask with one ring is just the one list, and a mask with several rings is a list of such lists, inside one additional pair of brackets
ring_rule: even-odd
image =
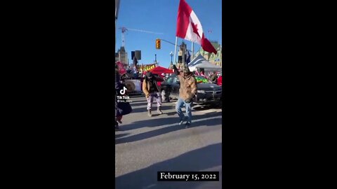
[[(221, 125), (222, 124), (222, 120), (223, 118), (211, 118), (208, 120), (202, 120), (202, 121), (198, 121), (198, 122), (192, 122), (192, 125), (190, 125), (190, 127), (199, 127), (199, 126), (214, 126), (214, 125)], [(189, 128), (190, 128), (189, 127)], [(159, 136), (161, 134), (166, 134), (169, 132), (175, 132), (177, 130), (185, 130), (185, 125), (174, 125), (174, 126), (169, 126), (169, 127), (163, 127), (160, 128), (158, 130), (152, 130), (149, 132), (143, 132), (140, 134), (135, 134), (132, 135), (130, 137), (124, 137), (122, 139), (116, 139), (115, 140), (115, 144), (121, 144), (121, 143), (126, 143), (126, 142), (133, 142), (133, 141), (140, 141), (143, 139), (149, 139), (151, 137), (156, 137)], [(188, 128), (187, 128), (188, 130)]]

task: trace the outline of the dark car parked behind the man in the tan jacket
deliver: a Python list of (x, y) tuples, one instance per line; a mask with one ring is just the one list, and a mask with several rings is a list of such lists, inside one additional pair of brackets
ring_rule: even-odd
[[(195, 76), (197, 80), (197, 95), (193, 102), (196, 104), (218, 103), (222, 104), (222, 88), (219, 85), (211, 83), (203, 76)], [(175, 74), (169, 76), (161, 83), (161, 96), (163, 99), (179, 97), (180, 82)]]

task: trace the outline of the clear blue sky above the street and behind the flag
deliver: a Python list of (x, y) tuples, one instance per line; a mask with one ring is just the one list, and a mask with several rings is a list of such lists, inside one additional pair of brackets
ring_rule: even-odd
[[(154, 31), (164, 34), (148, 34), (140, 31), (126, 31), (125, 49), (128, 52), (129, 63), (132, 63), (131, 51), (141, 50), (142, 59), (138, 64), (152, 64), (154, 54), (157, 54), (159, 66), (169, 67), (170, 52), (174, 53), (174, 45), (161, 41), (161, 49), (155, 47), (156, 38), (162, 38), (171, 43), (176, 42), (176, 22), (179, 0), (120, 0), (116, 31), (116, 50), (121, 47), (121, 29), (126, 27)], [(185, 0), (199, 18), (204, 34), (210, 41), (222, 40), (222, 2), (221, 0)], [(212, 33), (208, 31), (211, 30)], [(178, 38), (187, 43), (187, 49), (192, 50), (190, 41)], [(194, 52), (200, 45), (194, 43)], [(174, 59), (174, 57), (173, 57)], [(177, 57), (178, 59), (178, 50)]]

